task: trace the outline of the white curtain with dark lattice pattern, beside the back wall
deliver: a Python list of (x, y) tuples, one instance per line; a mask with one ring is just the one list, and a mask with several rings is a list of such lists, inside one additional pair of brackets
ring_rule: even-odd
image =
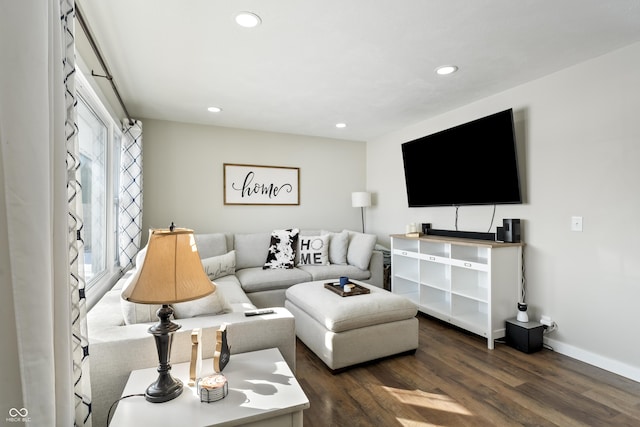
[(127, 270), (142, 237), (142, 122), (122, 121), (120, 169), (120, 268)]

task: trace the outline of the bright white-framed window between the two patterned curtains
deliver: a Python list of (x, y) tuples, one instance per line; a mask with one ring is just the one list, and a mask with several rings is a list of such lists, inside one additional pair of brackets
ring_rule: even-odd
[(118, 185), (122, 132), (80, 72), (76, 86), (84, 276), (91, 306), (119, 274)]

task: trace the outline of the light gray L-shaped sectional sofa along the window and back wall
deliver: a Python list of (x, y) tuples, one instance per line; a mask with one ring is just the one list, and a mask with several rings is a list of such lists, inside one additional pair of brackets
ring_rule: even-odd
[[(344, 234), (346, 247), (338, 247)], [(320, 231), (304, 231), (304, 236), (326, 236)], [(288, 287), (312, 280), (348, 276), (375, 286), (382, 286), (382, 253), (374, 251), (371, 237), (342, 232), (334, 241), (334, 254), (345, 264), (301, 265), (296, 259), (292, 269), (263, 269), (271, 232), (253, 234), (196, 234), (198, 252), (205, 271), (217, 286), (212, 296), (174, 306), (176, 323), (182, 328), (174, 334), (171, 362), (187, 362), (191, 353), (191, 330), (201, 328), (203, 357), (213, 357), (215, 332), (227, 325), (232, 355), (277, 347), (295, 372), (295, 320), (284, 308)], [(335, 236), (334, 236), (335, 237)], [(375, 238), (374, 238), (375, 239)], [(329, 238), (328, 242), (331, 242)], [(344, 242), (342, 242), (344, 243)], [(329, 248), (331, 245), (329, 244)], [(345, 253), (346, 251), (346, 253)], [(369, 252), (367, 254), (367, 251)], [(136, 264), (143, 262), (143, 251)], [(365, 266), (363, 263), (367, 262)], [(362, 269), (354, 264), (368, 267)], [(106, 425), (109, 407), (122, 393), (129, 373), (135, 369), (158, 365), (158, 356), (149, 326), (157, 323), (157, 306), (134, 304), (121, 298), (136, 273), (128, 271), (89, 311), (89, 351), (92, 412), (95, 425)], [(273, 307), (274, 313), (246, 317), (244, 311)], [(233, 360), (233, 357), (232, 357)], [(144, 392), (144, 390), (141, 390)]]

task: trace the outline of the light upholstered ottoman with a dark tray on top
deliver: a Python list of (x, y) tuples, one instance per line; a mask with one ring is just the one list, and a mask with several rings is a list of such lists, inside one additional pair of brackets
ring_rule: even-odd
[(327, 280), (286, 291), (296, 335), (333, 371), (418, 348), (417, 307), (400, 295), (353, 281), (371, 293), (342, 297)]

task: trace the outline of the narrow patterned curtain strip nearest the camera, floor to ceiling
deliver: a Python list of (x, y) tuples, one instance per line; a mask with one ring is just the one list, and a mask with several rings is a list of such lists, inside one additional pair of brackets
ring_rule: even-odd
[(69, 285), (71, 287), (71, 352), (75, 425), (91, 426), (91, 383), (89, 379), (89, 340), (84, 282), (84, 242), (82, 240), (82, 187), (78, 142), (75, 87), (75, 42), (73, 0), (60, 0), (65, 85), (65, 137), (67, 164)]

